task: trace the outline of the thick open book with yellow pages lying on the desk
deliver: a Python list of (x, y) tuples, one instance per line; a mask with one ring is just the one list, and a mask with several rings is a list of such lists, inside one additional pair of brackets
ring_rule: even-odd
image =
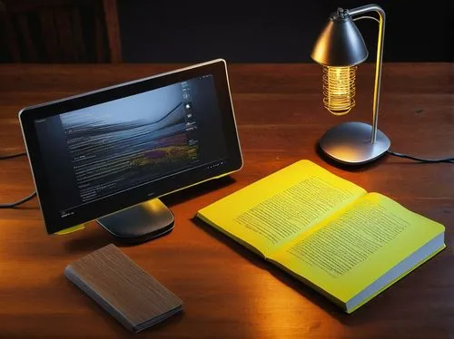
[(309, 160), (198, 211), (351, 313), (439, 253), (445, 228)]

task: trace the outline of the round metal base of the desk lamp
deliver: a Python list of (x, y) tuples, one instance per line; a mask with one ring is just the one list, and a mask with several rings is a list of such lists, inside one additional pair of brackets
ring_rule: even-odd
[(390, 149), (390, 139), (377, 131), (370, 142), (372, 126), (363, 122), (344, 122), (327, 131), (320, 140), (321, 150), (343, 164), (360, 165), (380, 158)]

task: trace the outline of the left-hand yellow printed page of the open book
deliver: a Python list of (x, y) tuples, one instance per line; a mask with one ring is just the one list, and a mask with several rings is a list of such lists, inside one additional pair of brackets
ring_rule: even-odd
[(267, 257), (364, 194), (359, 186), (301, 160), (202, 208), (197, 215)]

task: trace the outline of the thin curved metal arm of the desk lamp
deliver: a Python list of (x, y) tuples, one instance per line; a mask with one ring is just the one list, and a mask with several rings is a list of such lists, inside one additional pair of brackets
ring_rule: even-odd
[(349, 9), (351, 17), (362, 15), (368, 12), (377, 12), (380, 16), (379, 20), (379, 39), (377, 42), (377, 58), (375, 63), (375, 83), (373, 91), (373, 112), (372, 112), (372, 134), (370, 142), (374, 143), (377, 140), (377, 125), (379, 121), (379, 102), (380, 102), (380, 82), (381, 82), (381, 63), (383, 61), (383, 40), (385, 38), (385, 11), (379, 5), (363, 5), (360, 7)]

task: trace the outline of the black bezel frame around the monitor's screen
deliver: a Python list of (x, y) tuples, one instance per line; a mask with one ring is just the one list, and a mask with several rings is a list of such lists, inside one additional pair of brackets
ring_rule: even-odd
[[(123, 190), (103, 199), (94, 200), (86, 204), (86, 208), (74, 217), (56, 218), (57, 211), (52, 204), (53, 198), (51, 196), (49, 180), (45, 172), (35, 131), (35, 120), (152, 91), (166, 85), (187, 81), (207, 74), (213, 75), (222, 115), (222, 130), (224, 131), (225, 145), (227, 147), (225, 160), (221, 164), (212, 167), (207, 166), (203, 169), (186, 169), (170, 177), (164, 176), (139, 188)], [(44, 225), (48, 234), (54, 234), (66, 228), (73, 228), (85, 224), (124, 208), (133, 207), (149, 199), (160, 198), (176, 190), (186, 189), (203, 181), (220, 178), (242, 169), (242, 150), (233, 111), (227, 64), (223, 59), (198, 63), (171, 72), (155, 74), (131, 82), (119, 83), (92, 92), (84, 92), (54, 102), (44, 102), (25, 107), (19, 111), (18, 116), (25, 140), (28, 160), (35, 181), (37, 197), (44, 217)]]

